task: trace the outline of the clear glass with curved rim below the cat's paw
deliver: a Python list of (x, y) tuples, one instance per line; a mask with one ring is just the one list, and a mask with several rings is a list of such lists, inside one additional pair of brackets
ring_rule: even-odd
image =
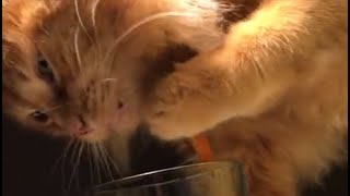
[(97, 185), (93, 196), (246, 196), (243, 167), (207, 162), (128, 176)]

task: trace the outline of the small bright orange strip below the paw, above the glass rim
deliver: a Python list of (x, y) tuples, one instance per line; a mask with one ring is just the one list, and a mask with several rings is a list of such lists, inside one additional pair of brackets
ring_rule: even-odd
[(192, 139), (192, 146), (200, 161), (209, 162), (213, 160), (212, 150), (209, 140), (205, 134), (199, 134)]

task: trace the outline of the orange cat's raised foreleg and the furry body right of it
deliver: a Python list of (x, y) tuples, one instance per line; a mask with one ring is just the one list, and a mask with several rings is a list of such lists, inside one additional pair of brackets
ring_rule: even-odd
[(245, 163), (252, 195), (298, 195), (347, 155), (347, 14), (345, 0), (262, 0), (158, 84), (151, 131), (208, 131), (218, 160)]

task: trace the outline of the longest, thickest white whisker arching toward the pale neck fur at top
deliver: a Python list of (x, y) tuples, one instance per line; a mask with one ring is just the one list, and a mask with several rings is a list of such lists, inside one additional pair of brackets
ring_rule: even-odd
[(113, 53), (113, 50), (124, 39), (130, 35), (132, 32), (135, 32), (140, 26), (148, 24), (150, 22), (164, 19), (164, 17), (198, 17), (198, 14), (191, 13), (191, 12), (162, 12), (158, 14), (150, 15), (138, 23), (131, 25), (127, 30), (125, 30), (124, 34), (121, 34), (110, 46), (110, 48), (106, 52), (106, 57), (104, 59), (104, 62), (109, 59), (109, 56)]

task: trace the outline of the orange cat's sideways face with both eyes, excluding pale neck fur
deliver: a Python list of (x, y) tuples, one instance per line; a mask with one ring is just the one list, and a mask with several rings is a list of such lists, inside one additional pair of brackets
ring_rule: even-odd
[(128, 25), (118, 12), (110, 1), (3, 5), (4, 112), (26, 126), (90, 142), (135, 128), (144, 71), (137, 50), (145, 44), (118, 41)]

